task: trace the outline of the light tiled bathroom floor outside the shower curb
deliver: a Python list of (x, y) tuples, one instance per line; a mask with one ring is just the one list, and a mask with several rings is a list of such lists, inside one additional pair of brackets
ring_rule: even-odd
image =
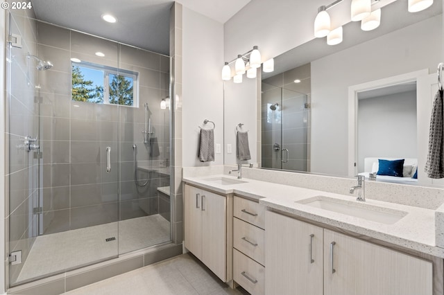
[(248, 293), (243, 289), (230, 289), (192, 254), (187, 253), (65, 294), (246, 295)]

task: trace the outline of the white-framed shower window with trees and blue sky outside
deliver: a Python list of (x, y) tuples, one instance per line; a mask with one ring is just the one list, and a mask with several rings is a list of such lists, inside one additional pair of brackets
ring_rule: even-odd
[(138, 107), (138, 73), (90, 62), (71, 63), (71, 100)]

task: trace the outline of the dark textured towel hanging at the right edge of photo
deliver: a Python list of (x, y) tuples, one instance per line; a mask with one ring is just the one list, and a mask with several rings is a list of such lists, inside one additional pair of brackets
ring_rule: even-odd
[(444, 178), (443, 125), (443, 90), (438, 90), (433, 102), (429, 131), (429, 152), (425, 163), (425, 172), (427, 172), (429, 178)]

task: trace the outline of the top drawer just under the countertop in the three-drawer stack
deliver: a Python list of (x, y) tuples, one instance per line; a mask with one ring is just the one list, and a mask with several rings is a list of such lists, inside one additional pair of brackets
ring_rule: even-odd
[(234, 217), (245, 220), (250, 224), (255, 224), (261, 229), (265, 229), (265, 206), (259, 203), (234, 196)]

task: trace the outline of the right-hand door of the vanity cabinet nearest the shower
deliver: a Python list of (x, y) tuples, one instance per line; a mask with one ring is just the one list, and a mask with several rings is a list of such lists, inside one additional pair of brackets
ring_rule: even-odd
[(226, 198), (202, 191), (202, 262), (226, 281)]

